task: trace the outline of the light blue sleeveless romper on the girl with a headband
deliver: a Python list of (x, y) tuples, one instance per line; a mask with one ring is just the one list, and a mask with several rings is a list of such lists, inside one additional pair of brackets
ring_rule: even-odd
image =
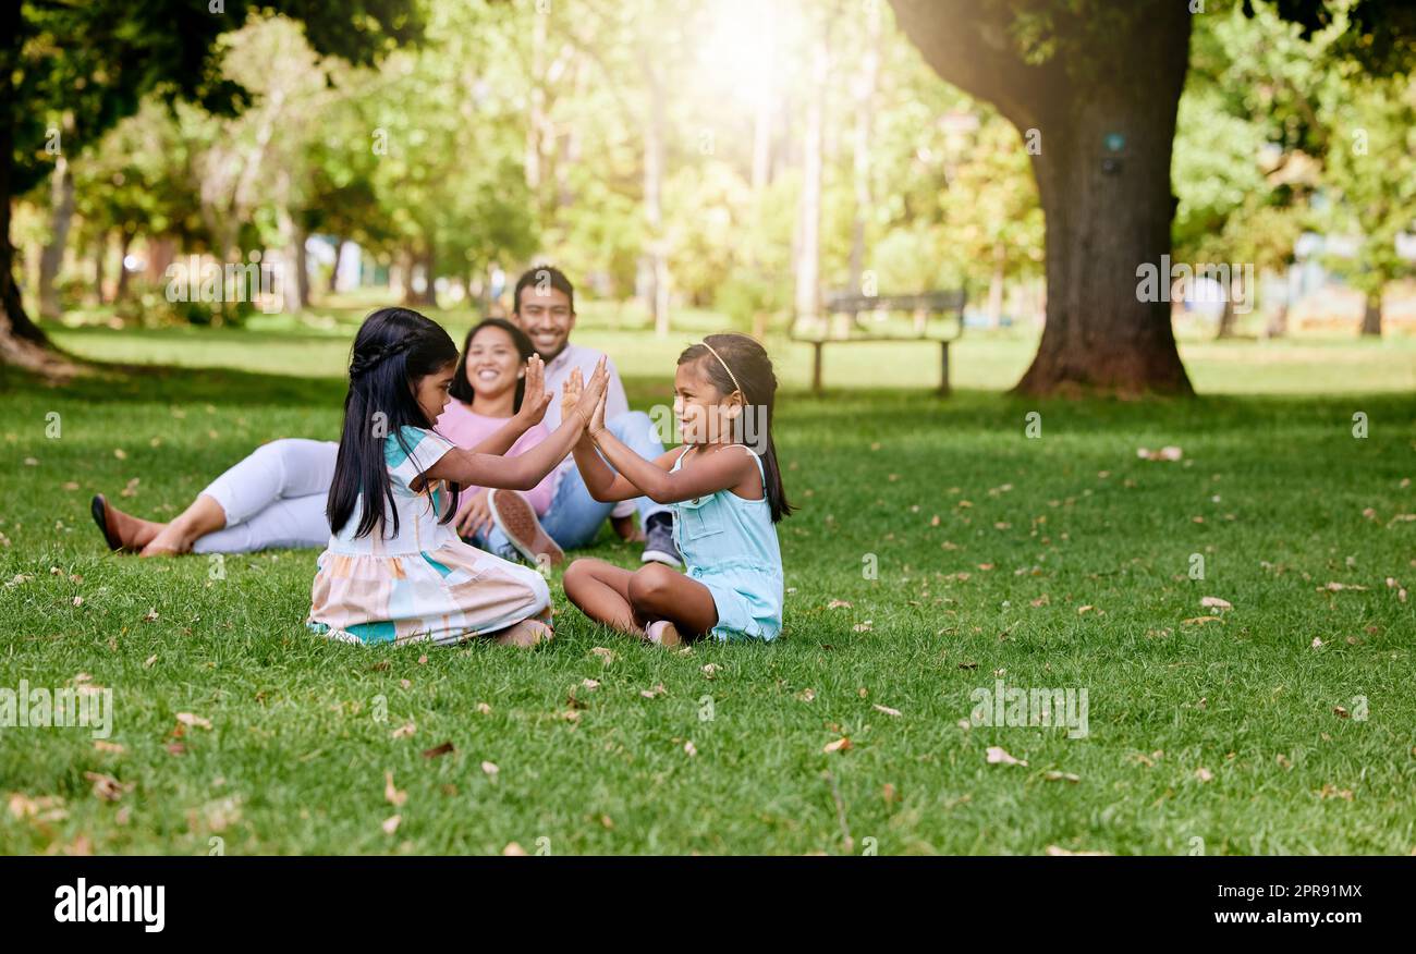
[[(745, 500), (731, 490), (681, 500), (674, 508), (674, 542), (688, 576), (712, 593), (718, 607), (718, 640), (775, 640), (782, 634), (782, 549), (767, 502), (762, 459), (746, 444), (736, 444), (758, 461), (762, 500)], [(674, 460), (673, 473), (688, 447)], [(731, 449), (719, 453), (733, 453)]]

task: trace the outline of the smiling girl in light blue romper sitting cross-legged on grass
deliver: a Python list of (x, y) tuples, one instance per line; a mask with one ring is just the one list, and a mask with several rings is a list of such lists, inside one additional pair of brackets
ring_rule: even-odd
[[(572, 375), (566, 401), (575, 398), (576, 384)], [(575, 606), (592, 620), (663, 645), (702, 636), (775, 640), (782, 633), (776, 522), (793, 508), (772, 442), (776, 391), (760, 344), (745, 334), (708, 335), (678, 357), (674, 374), (684, 444), (656, 460), (644, 460), (605, 429), (599, 402), (575, 444), (585, 485), (600, 501), (647, 495), (671, 504), (687, 572), (658, 563), (630, 572), (578, 559), (564, 580)]]

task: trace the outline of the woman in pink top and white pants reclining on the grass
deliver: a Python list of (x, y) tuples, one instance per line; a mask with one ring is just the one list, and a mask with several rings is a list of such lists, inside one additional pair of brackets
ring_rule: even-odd
[[(481, 454), (515, 456), (545, 440), (545, 426), (523, 413), (521, 405), (532, 354), (531, 341), (508, 321), (487, 318), (473, 327), (438, 432)], [(110, 549), (142, 556), (324, 546), (330, 541), (324, 508), (337, 454), (338, 443), (331, 440), (272, 440), (217, 477), (167, 524), (125, 514), (102, 494), (93, 497), (93, 522)], [(565, 553), (537, 519), (549, 508), (551, 491), (551, 477), (524, 495), (463, 488), (457, 531), (498, 556), (521, 555), (556, 566)]]

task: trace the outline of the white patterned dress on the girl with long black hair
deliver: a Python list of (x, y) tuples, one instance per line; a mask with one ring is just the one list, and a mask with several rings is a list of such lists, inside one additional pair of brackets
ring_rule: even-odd
[(320, 555), (307, 626), (347, 643), (457, 643), (531, 617), (549, 621), (551, 592), (537, 570), (464, 544), (452, 522), (439, 522), (449, 497), (442, 481), (411, 487), (456, 444), (423, 427), (405, 426), (402, 437), (384, 439), (398, 536), (385, 538), (379, 524), (354, 538), (361, 498)]

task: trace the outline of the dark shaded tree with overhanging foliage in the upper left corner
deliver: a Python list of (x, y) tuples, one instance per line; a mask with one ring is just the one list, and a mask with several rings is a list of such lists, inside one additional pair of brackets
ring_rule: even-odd
[(13, 197), (51, 174), (59, 154), (45, 150), (50, 117), (74, 116), (74, 133), (59, 144), (72, 157), (136, 112), (147, 91), (238, 112), (248, 98), (221, 75), (217, 38), (258, 11), (289, 14), (317, 52), (354, 62), (372, 62), (421, 31), (409, 0), (0, 4), (0, 362), (48, 371), (59, 364), (24, 311), (10, 242)]

